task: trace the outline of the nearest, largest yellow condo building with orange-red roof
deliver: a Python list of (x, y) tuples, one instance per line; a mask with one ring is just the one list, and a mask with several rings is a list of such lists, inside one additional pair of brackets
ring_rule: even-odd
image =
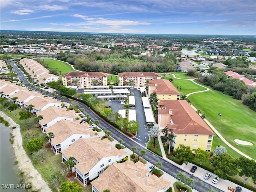
[(215, 135), (204, 120), (186, 100), (160, 100), (158, 102), (158, 126), (175, 134), (174, 150), (180, 145), (210, 152)]

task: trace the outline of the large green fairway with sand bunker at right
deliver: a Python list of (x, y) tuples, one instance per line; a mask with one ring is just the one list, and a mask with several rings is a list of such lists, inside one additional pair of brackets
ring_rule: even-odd
[[(256, 159), (256, 113), (230, 96), (210, 89), (210, 91), (192, 94), (188, 97), (192, 105), (206, 114), (206, 119), (220, 134), (238, 150)], [(222, 116), (218, 113), (221, 112)], [(251, 142), (253, 146), (234, 142), (240, 139)]]

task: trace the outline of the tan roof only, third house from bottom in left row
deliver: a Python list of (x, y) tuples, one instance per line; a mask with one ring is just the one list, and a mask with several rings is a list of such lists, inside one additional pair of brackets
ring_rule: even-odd
[(80, 124), (79, 121), (68, 120), (60, 120), (53, 126), (46, 127), (45, 130), (47, 133), (52, 132), (54, 134), (54, 138), (51, 140), (55, 145), (60, 144), (73, 134), (85, 134), (88, 135), (88, 137), (92, 137), (97, 133), (97, 131), (89, 129), (89, 124), (87, 122)]

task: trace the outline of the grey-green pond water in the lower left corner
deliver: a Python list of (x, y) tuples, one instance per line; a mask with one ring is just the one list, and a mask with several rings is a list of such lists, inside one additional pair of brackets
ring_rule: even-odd
[[(1, 192), (24, 192), (26, 190), (20, 189), (19, 186), (19, 174), (18, 166), (15, 165), (14, 149), (10, 142), (11, 128), (6, 127), (4, 124), (0, 124), (0, 191)], [(6, 185), (11, 188), (6, 188)]]

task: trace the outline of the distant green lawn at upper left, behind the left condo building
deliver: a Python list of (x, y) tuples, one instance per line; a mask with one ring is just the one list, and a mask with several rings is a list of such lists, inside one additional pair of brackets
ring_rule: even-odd
[(46, 63), (49, 66), (49, 70), (55, 70), (57, 69), (58, 73), (62, 76), (62, 74), (66, 74), (68, 72), (77, 71), (72, 68), (72, 66), (68, 65), (67, 63), (59, 60), (54, 59), (41, 59), (44, 60), (44, 63)]

